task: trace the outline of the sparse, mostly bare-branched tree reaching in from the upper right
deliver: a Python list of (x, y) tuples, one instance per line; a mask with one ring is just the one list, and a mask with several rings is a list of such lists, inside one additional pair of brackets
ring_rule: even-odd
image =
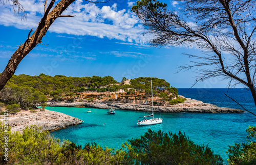
[(132, 7), (153, 46), (194, 46), (199, 54), (180, 70), (196, 69), (198, 81), (211, 77), (242, 84), (251, 91), (256, 105), (255, 30), (256, 2), (244, 0), (178, 0), (179, 7), (167, 9), (156, 0), (141, 0)]

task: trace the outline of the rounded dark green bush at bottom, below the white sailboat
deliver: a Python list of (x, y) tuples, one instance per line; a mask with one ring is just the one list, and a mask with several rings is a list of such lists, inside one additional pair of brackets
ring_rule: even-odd
[(135, 164), (223, 164), (220, 155), (207, 146), (194, 144), (185, 134), (155, 132), (151, 129), (122, 147), (128, 150), (125, 159)]

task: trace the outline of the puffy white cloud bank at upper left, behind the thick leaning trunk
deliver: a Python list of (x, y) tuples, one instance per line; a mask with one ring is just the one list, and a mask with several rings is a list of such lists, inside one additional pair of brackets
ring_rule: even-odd
[[(20, 4), (27, 10), (27, 21), (13, 14), (12, 6), (0, 6), (0, 24), (14, 26), (18, 29), (30, 30), (37, 28), (44, 14), (44, 2), (21, 0)], [(75, 1), (62, 15), (76, 17), (60, 17), (51, 25), (49, 31), (71, 35), (90, 35), (100, 38), (117, 39), (123, 42), (145, 44), (148, 40), (142, 36), (144, 28), (139, 19), (125, 9), (117, 11), (117, 5), (99, 8), (95, 4), (83, 4), (82, 0)]]

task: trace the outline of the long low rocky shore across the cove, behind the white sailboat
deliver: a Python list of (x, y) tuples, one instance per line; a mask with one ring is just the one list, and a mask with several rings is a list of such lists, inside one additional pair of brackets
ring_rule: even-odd
[[(137, 100), (136, 100), (137, 101)], [(121, 101), (100, 101), (95, 100), (93, 102), (57, 102), (57, 103), (47, 103), (47, 106), (66, 106), (66, 107), (92, 107), (92, 108), (116, 108), (116, 109), (126, 109), (131, 111), (152, 111), (151, 104), (143, 104), (136, 102), (135, 100), (121, 100)], [(156, 105), (155, 108), (158, 106)], [(161, 112), (166, 113), (244, 113), (245, 111), (241, 109), (234, 109), (228, 107), (218, 107), (214, 104), (204, 103), (195, 99), (186, 98), (183, 103), (178, 103), (170, 106), (159, 106)]]

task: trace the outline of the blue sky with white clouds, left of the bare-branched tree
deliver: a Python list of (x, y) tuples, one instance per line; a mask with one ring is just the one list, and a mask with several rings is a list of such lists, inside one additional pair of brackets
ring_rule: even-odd
[[(12, 53), (25, 42), (31, 29), (35, 30), (44, 12), (44, 1), (19, 1), (28, 15), (27, 20), (16, 16), (12, 7), (0, 5), (0, 72), (6, 67)], [(168, 6), (178, 8), (176, 1)], [(140, 76), (164, 78), (176, 88), (190, 88), (196, 73), (175, 74), (177, 67), (189, 63), (182, 53), (200, 53), (194, 48), (151, 47), (143, 36), (144, 28), (131, 12), (135, 1), (114, 0), (93, 4), (77, 0), (50, 27), (43, 44), (35, 47), (19, 64), (15, 74), (66, 76), (113, 76), (136, 78)], [(227, 81), (208, 79), (194, 88), (226, 88)]]

